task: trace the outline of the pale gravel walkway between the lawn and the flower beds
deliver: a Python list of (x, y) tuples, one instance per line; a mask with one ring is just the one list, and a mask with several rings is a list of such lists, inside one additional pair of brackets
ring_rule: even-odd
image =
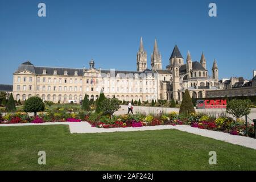
[(19, 123), (19, 124), (1, 124), (2, 126), (40, 126), (40, 125), (69, 125), (69, 130), (71, 133), (110, 133), (116, 131), (146, 131), (146, 130), (164, 130), (164, 129), (176, 129), (180, 131), (185, 131), (188, 133), (201, 135), (203, 137), (213, 138), (221, 140), (228, 143), (238, 144), (240, 146), (245, 146), (248, 148), (253, 148), (256, 150), (256, 139), (249, 137), (242, 137), (236, 135), (230, 135), (228, 133), (223, 133), (220, 131), (210, 131), (198, 129), (195, 127), (187, 125), (160, 125), (160, 126), (144, 126), (144, 127), (126, 127), (126, 128), (112, 128), (112, 129), (100, 129), (97, 127), (92, 127), (88, 122), (56, 122), (56, 123)]

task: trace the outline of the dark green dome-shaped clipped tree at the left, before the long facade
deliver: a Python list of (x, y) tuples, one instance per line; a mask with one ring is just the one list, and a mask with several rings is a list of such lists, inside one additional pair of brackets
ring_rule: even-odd
[(27, 113), (32, 112), (35, 116), (37, 112), (44, 111), (44, 109), (44, 102), (40, 97), (33, 96), (24, 102), (24, 111)]

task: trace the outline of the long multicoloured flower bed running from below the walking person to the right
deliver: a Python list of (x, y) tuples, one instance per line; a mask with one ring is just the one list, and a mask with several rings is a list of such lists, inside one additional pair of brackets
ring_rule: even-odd
[[(104, 129), (113, 127), (142, 127), (142, 126), (157, 126), (157, 125), (190, 125), (199, 129), (207, 129), (214, 131), (222, 131), (232, 135), (245, 135), (245, 121), (220, 115), (218, 118), (204, 114), (177, 114), (175, 112), (160, 115), (143, 115), (125, 114), (117, 115), (111, 118), (110, 116), (102, 116), (93, 113), (87, 120), (92, 127), (100, 127)], [(248, 124), (248, 135), (254, 136), (253, 125)]]

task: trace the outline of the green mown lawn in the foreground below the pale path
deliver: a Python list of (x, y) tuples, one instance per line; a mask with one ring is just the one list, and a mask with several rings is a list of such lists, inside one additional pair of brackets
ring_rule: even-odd
[[(70, 134), (0, 127), (0, 170), (256, 170), (256, 150), (177, 130)], [(209, 151), (217, 165), (209, 165)], [(38, 152), (46, 151), (46, 165)]]

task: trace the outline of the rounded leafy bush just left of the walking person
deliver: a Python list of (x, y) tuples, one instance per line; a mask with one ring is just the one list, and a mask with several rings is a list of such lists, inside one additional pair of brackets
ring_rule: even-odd
[(100, 109), (102, 114), (113, 116), (115, 111), (118, 111), (120, 108), (119, 101), (117, 98), (107, 98), (100, 103)]

